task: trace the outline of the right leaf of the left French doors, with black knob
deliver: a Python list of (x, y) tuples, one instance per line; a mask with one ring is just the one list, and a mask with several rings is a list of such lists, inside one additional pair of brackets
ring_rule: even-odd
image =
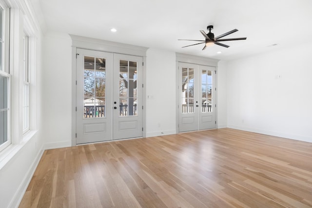
[(143, 58), (114, 54), (114, 139), (143, 135)]

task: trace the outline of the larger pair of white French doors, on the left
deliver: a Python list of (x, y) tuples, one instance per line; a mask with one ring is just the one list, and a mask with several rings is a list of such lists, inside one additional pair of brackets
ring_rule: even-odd
[(77, 49), (77, 144), (142, 136), (142, 62)]

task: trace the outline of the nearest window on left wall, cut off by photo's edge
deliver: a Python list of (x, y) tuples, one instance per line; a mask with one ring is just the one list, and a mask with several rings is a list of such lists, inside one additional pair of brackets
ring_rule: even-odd
[(11, 144), (10, 140), (10, 74), (6, 64), (5, 10), (0, 6), (0, 151)]

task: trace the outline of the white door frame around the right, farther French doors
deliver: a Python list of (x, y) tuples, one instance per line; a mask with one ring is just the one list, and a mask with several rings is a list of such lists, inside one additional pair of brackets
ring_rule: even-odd
[(217, 116), (217, 75), (218, 75), (218, 62), (220, 60), (217, 59), (211, 59), (211, 58), (207, 58), (207, 57), (201, 57), (201, 56), (194, 56), (194, 55), (189, 55), (189, 54), (182, 54), (182, 53), (176, 53), (176, 132), (179, 132), (179, 108), (178, 105), (180, 104), (179, 101), (179, 96), (178, 93), (180, 92), (179, 89), (179, 62), (184, 62), (184, 63), (192, 63), (192, 64), (196, 64), (196, 65), (206, 65), (206, 66), (213, 66), (215, 67), (215, 86), (216, 86), (216, 90), (215, 90), (215, 121), (216, 121), (216, 128), (218, 126), (218, 116)]

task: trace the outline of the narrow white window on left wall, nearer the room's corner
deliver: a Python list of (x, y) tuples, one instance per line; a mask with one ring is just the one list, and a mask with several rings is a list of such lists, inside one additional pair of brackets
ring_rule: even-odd
[(29, 68), (28, 68), (28, 40), (23, 38), (23, 133), (29, 130)]

